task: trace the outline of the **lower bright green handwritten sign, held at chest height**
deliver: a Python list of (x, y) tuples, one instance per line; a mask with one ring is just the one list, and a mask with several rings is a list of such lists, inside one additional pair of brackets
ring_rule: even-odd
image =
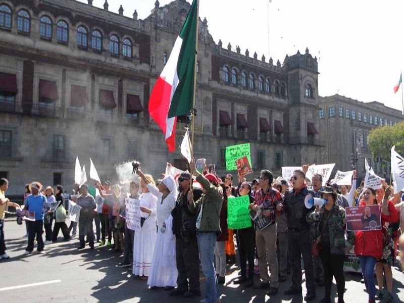
[(249, 197), (247, 195), (227, 200), (227, 226), (230, 229), (251, 227), (248, 212)]

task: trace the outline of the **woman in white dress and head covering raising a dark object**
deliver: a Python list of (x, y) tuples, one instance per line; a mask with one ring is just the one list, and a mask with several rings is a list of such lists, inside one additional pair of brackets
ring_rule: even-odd
[[(169, 218), (176, 204), (176, 184), (172, 176), (166, 176), (157, 188), (153, 182), (146, 179), (141, 171), (137, 174), (146, 183), (148, 190), (158, 197), (157, 200), (157, 224), (159, 230), (157, 232), (157, 241), (151, 261), (150, 274), (147, 284), (150, 289), (165, 287), (171, 290), (177, 286), (177, 266), (175, 263), (175, 236), (167, 230), (171, 226)], [(167, 224), (166, 224), (167, 221)], [(171, 256), (172, 258), (167, 258)], [(167, 262), (170, 260), (171, 262)]]

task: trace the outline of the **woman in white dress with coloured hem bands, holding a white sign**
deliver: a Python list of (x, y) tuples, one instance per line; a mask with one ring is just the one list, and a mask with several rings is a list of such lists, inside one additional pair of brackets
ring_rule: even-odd
[[(154, 183), (152, 176), (145, 177)], [(139, 198), (140, 211), (144, 222), (143, 226), (135, 231), (133, 240), (133, 274), (147, 280), (157, 238), (157, 197), (149, 192), (143, 181), (140, 181), (140, 187), (143, 190)]]

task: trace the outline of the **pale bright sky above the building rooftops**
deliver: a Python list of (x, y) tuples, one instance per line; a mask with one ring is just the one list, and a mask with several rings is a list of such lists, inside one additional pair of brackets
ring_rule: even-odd
[[(79, 0), (87, 3), (87, 0)], [(189, 3), (190, 0), (187, 0)], [(94, 0), (102, 8), (105, 0)], [(170, 0), (159, 0), (160, 6)], [(109, 10), (145, 19), (155, 0), (109, 0)], [(402, 110), (404, 67), (402, 0), (200, 0), (199, 17), (208, 20), (214, 41), (248, 48), (274, 64), (306, 47), (318, 59), (319, 94), (378, 101)]]

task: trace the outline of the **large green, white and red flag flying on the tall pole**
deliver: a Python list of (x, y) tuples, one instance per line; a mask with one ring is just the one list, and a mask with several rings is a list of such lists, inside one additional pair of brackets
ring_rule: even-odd
[(170, 58), (150, 94), (148, 111), (166, 135), (168, 151), (175, 150), (177, 117), (192, 110), (197, 15), (198, 2), (193, 0)]

